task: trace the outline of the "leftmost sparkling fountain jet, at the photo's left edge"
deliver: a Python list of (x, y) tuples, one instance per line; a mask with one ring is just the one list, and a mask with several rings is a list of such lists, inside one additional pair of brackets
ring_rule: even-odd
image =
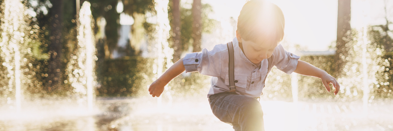
[(21, 58), (24, 56), (24, 36), (27, 23), (25, 21), (25, 7), (20, 0), (5, 0), (2, 4), (4, 16), (2, 18), (2, 41), (0, 47), (2, 49), (1, 56), (4, 57), (3, 66), (7, 67), (7, 77), (9, 91), (15, 87), (15, 106), (17, 111), (21, 110), (22, 100), (22, 84), (23, 78), (21, 65), (24, 63)]

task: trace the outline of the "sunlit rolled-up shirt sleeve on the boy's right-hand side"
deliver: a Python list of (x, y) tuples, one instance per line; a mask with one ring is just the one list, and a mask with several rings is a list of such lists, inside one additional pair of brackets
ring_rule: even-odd
[(291, 74), (296, 70), (300, 58), (300, 56), (286, 52), (281, 44), (275, 48), (273, 56), (273, 65), (286, 74)]

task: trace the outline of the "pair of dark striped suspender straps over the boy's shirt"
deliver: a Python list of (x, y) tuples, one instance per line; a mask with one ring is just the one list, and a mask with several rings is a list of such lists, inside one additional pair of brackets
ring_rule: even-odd
[[(228, 76), (229, 76), (229, 89), (231, 93), (236, 92), (236, 86), (235, 86), (235, 58), (233, 54), (233, 44), (232, 42), (228, 42), (227, 44), (228, 47), (228, 55), (229, 55), (229, 62), (228, 62)], [(266, 77), (268, 76), (270, 70), (272, 70), (272, 56), (268, 58), (268, 72), (266, 73)], [(263, 83), (265, 83), (265, 79), (263, 80)], [(264, 85), (264, 84), (263, 84)]]

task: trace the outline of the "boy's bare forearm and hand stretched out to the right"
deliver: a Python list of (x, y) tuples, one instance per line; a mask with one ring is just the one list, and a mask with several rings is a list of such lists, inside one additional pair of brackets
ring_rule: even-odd
[(334, 95), (337, 95), (338, 91), (340, 90), (340, 84), (338, 84), (336, 78), (329, 75), (326, 71), (323, 71), (315, 66), (312, 66), (307, 62), (298, 60), (298, 66), (296, 66), (296, 70), (294, 72), (301, 75), (321, 78), (323, 85), (326, 87), (327, 91), (329, 92), (330, 92), (329, 84), (330, 83), (333, 84), (333, 86), (336, 88), (336, 90), (334, 90)]

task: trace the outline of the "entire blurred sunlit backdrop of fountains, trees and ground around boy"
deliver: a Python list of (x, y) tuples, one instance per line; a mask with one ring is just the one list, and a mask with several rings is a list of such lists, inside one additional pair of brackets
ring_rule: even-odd
[[(265, 128), (393, 130), (393, 2), (269, 0), (287, 51), (334, 76), (275, 67), (261, 96)], [(185, 53), (235, 38), (246, 0), (1, 0), (0, 130), (232, 131), (211, 113), (210, 77), (147, 91)]]

